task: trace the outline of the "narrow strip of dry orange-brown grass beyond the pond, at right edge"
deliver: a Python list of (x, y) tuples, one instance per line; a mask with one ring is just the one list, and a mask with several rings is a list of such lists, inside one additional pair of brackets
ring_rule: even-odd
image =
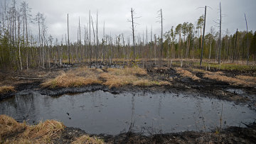
[(247, 82), (243, 79), (237, 79), (234, 77), (227, 77), (225, 75), (220, 74), (204, 74), (203, 77), (208, 79), (214, 79), (220, 82), (228, 82), (228, 84), (235, 85), (235, 86), (243, 86), (243, 87), (255, 87), (255, 82)]

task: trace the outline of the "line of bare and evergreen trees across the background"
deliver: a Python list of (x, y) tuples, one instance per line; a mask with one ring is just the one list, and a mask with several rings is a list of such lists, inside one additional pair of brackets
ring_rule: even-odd
[[(69, 28), (65, 38), (53, 38), (47, 31), (46, 16), (39, 12), (32, 16), (31, 8), (25, 1), (21, 4), (15, 0), (11, 4), (4, 1), (0, 10), (0, 67), (29, 70), (70, 62), (199, 59), (201, 55), (203, 60), (217, 61), (220, 57), (221, 60), (235, 62), (249, 57), (250, 61), (256, 61), (256, 31), (230, 33), (226, 29), (220, 35), (220, 31), (212, 26), (210, 32), (203, 35), (205, 16), (199, 16), (195, 24), (179, 23), (163, 33), (164, 15), (160, 10), (160, 34), (153, 34), (152, 27), (146, 27), (146, 33), (135, 33), (134, 9), (131, 13), (132, 38), (122, 33), (105, 34), (105, 23), (102, 38), (99, 38), (98, 16), (93, 18), (89, 14), (85, 26), (81, 26), (79, 19), (77, 40), (71, 42)], [(35, 30), (30, 25), (37, 27), (37, 33), (32, 33)]]

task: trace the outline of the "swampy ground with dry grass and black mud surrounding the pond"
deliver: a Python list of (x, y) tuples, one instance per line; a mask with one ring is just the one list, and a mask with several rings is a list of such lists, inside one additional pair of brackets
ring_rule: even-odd
[[(91, 68), (90, 68), (91, 67)], [(142, 68), (144, 67), (144, 68)], [(39, 92), (47, 96), (78, 94), (102, 90), (111, 94), (186, 92), (198, 97), (233, 101), (255, 111), (256, 68), (238, 64), (215, 64), (198, 66), (198, 62), (166, 61), (163, 67), (156, 67), (154, 61), (115, 62), (114, 65), (70, 65), (51, 70), (4, 71), (0, 74), (0, 104), (18, 93)], [(256, 124), (241, 123), (242, 127), (218, 126), (212, 131), (183, 131), (179, 133), (134, 133), (127, 131), (117, 135), (86, 133), (80, 128), (65, 127), (65, 123), (55, 123), (51, 131), (38, 126), (17, 123), (16, 120), (0, 116), (1, 143), (256, 143)], [(24, 119), (26, 121), (26, 119)], [(6, 122), (6, 121), (11, 121)], [(22, 126), (11, 129), (11, 126)], [(45, 123), (48, 128), (49, 123)], [(38, 126), (39, 127), (39, 126)], [(219, 128), (220, 127), (220, 128)], [(55, 131), (55, 128), (57, 130)], [(48, 131), (48, 135), (40, 135)], [(35, 134), (36, 133), (36, 134)], [(54, 133), (54, 137), (52, 136)], [(38, 136), (39, 135), (39, 136)], [(42, 137), (43, 140), (39, 137)], [(23, 141), (22, 141), (23, 140)], [(80, 142), (75, 141), (80, 140)], [(87, 140), (87, 141), (86, 141)], [(103, 142), (104, 141), (104, 142)]]

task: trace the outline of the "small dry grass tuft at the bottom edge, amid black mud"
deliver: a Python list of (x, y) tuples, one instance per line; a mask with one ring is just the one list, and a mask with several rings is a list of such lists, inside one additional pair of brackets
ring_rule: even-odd
[(96, 138), (95, 136), (90, 137), (88, 135), (82, 135), (73, 141), (73, 144), (103, 144), (103, 140)]

